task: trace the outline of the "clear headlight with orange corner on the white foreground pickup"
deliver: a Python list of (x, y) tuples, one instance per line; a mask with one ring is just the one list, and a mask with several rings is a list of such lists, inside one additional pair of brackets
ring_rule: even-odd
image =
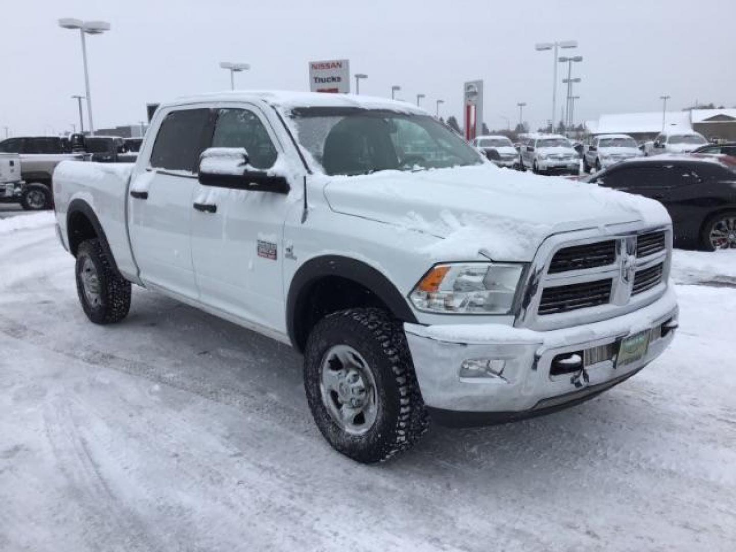
[(523, 269), (521, 264), (438, 264), (417, 283), (409, 298), (420, 311), (509, 314)]

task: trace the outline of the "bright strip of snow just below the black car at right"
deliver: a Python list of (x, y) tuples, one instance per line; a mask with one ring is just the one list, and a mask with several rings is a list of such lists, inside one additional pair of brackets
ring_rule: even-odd
[(680, 284), (731, 283), (736, 286), (736, 250), (674, 250), (670, 275)]

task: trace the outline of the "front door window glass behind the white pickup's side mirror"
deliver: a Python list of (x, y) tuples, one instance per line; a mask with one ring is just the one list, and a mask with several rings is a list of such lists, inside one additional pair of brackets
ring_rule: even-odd
[(212, 147), (245, 148), (250, 164), (256, 169), (270, 169), (278, 157), (261, 119), (245, 109), (219, 110)]

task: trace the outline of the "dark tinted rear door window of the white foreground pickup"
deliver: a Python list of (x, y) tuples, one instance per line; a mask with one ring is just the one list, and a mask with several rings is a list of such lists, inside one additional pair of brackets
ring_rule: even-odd
[(150, 165), (169, 171), (197, 170), (199, 155), (207, 146), (207, 109), (172, 111), (163, 119), (156, 135)]

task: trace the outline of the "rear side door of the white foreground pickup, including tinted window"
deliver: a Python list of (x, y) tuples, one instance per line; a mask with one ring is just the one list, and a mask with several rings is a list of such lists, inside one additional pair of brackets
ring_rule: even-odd
[(136, 165), (128, 202), (135, 261), (146, 286), (198, 298), (191, 260), (191, 217), (199, 155), (211, 137), (206, 107), (163, 111), (148, 166)]

